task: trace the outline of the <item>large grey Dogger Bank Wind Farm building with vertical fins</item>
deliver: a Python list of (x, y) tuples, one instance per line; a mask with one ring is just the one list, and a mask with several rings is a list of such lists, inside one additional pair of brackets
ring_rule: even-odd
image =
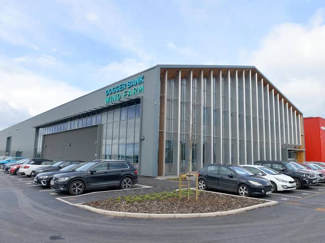
[(175, 175), (304, 161), (303, 128), (302, 112), (254, 66), (156, 65), (1, 131), (0, 155), (118, 158), (140, 175)]

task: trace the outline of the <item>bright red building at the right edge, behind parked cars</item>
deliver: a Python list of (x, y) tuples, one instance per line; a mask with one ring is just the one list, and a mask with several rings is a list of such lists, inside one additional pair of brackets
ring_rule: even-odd
[(306, 161), (325, 162), (325, 119), (304, 118)]

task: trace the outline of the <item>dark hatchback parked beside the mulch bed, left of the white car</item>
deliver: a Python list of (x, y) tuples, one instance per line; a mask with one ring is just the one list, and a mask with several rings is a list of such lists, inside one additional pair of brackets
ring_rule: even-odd
[(236, 192), (240, 196), (266, 195), (271, 193), (271, 183), (250, 171), (235, 165), (211, 164), (199, 171), (199, 189), (215, 188)]

